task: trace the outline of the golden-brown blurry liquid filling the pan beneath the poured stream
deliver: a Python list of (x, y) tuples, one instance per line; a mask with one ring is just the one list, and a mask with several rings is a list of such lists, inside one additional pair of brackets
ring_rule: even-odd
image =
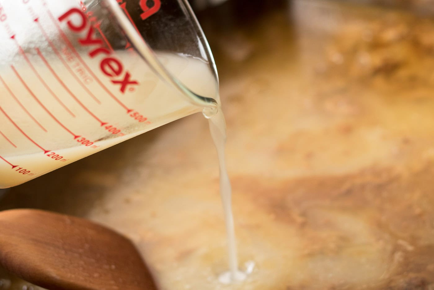
[(432, 289), (433, 21), (336, 1), (290, 6), (204, 23), (241, 267), (256, 263), (244, 283), (217, 281), (226, 240), (200, 115), (12, 189), (5, 207), (114, 227), (162, 289)]

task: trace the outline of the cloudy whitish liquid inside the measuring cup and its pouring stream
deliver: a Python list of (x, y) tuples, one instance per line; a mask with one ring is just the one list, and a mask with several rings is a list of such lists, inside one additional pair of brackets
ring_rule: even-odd
[[(69, 85), (70, 83), (73, 83), (74, 80), (69, 79), (72, 78), (72, 76), (61, 61), (51, 61), (49, 64), (53, 70), (56, 70), (56, 73), (59, 76), (62, 76), (63, 81), (67, 84), (69, 90), (78, 96), (81, 102), (84, 103), (89, 110), (92, 110), (95, 114), (98, 113), (99, 117), (103, 120), (110, 120), (113, 119), (113, 117), (118, 118), (115, 125), (122, 128), (125, 135), (122, 137), (108, 138), (106, 140), (95, 140), (94, 146), (98, 147), (93, 150), (86, 146), (77, 146), (73, 142), (72, 144), (75, 146), (62, 147), (67, 146), (68, 142), (64, 143), (59, 139), (59, 136), (66, 138), (65, 132), (61, 127), (59, 127), (59, 124), (53, 121), (53, 117), (43, 110), (35, 100), (33, 100), (29, 95), (29, 92), (23, 88), (22, 83), (19, 83), (16, 78), (14, 78), (13, 71), (8, 70), (0, 73), (0, 76), (6, 82), (6, 84), (0, 83), (2, 109), (23, 130), (23, 132), (28, 136), (31, 136), (38, 144), (42, 144), (47, 150), (50, 150), (50, 152), (44, 153), (39, 150), (39, 148), (36, 148), (34, 143), (17, 131), (17, 128), (13, 123), (11, 123), (4, 114), (0, 113), (0, 131), (2, 133), (2, 136), (0, 136), (0, 147), (2, 149), (0, 156), (8, 162), (0, 160), (0, 185), (2, 187), (10, 187), (24, 183), (155, 127), (177, 120), (190, 113), (200, 111), (200, 109), (198, 110), (197, 107), (192, 106), (180, 97), (175, 90), (173, 90), (173, 92), (168, 90), (167, 86), (161, 82), (161, 80), (158, 79), (151, 70), (144, 70), (143, 63), (138, 62), (137, 65), (134, 65), (137, 58), (129, 57), (128, 52), (118, 53), (118, 55), (120, 55), (125, 62), (129, 61), (130, 70), (133, 72), (136, 71), (136, 75), (140, 71), (141, 76), (143, 76), (139, 82), (145, 85), (138, 88), (138, 90), (141, 90), (143, 97), (136, 99), (130, 98), (128, 100), (128, 105), (140, 108), (142, 112), (145, 112), (146, 117), (151, 121), (147, 126), (141, 128), (135, 128), (133, 126), (129, 129), (122, 128), (122, 125), (119, 126), (119, 124), (128, 124), (129, 118), (128, 116), (119, 115), (118, 107), (112, 105), (101, 108), (101, 106), (95, 103), (89, 96), (83, 97), (85, 96), (85, 92), (82, 87), (78, 84), (76, 84), (76, 86)], [(85, 112), (83, 108), (68, 95), (64, 87), (62, 88), (54, 82), (55, 78), (53, 75), (50, 75), (49, 71), (47, 71), (46, 65), (43, 65), (43, 62), (37, 60), (35, 57), (29, 57), (29, 59), (32, 62), (34, 69), (46, 77), (45, 80), (47, 83), (54, 83), (54, 85), (50, 86), (50, 89), (53, 90), (56, 96), (59, 97), (62, 103), (65, 104), (65, 106), (76, 117), (72, 117), (64, 107), (60, 106), (60, 103), (54, 102), (54, 100), (51, 99), (52, 96), (49, 96), (48, 92), (45, 91), (46, 88), (40, 80), (35, 77), (32, 70), (24, 70), (22, 67), (17, 66), (16, 71), (20, 74), (20, 77), (22, 77), (26, 85), (31, 88), (32, 91), (36, 92), (35, 94), (40, 97), (39, 99), (47, 108), (49, 108), (50, 112), (52, 112), (52, 114), (63, 124), (66, 124), (71, 128), (71, 130), (79, 131), (81, 136), (103, 136), (105, 132), (104, 130), (101, 130), (99, 126), (89, 126), (89, 122), (94, 120), (89, 116), (89, 113)], [(210, 73), (207, 63), (194, 58), (173, 54), (159, 54), (159, 59), (175, 77), (181, 80), (188, 87), (191, 87), (195, 92), (206, 96), (217, 95), (215, 92), (216, 81), (214, 76)], [(52, 82), (49, 80), (52, 80)], [(15, 97), (13, 97), (10, 92), (12, 92)], [(97, 96), (101, 98), (102, 95)], [(21, 103), (22, 107), (20, 106), (20, 103), (17, 102), (17, 99)], [(27, 114), (25, 110), (27, 110), (31, 116)], [(161, 118), (162, 115), (165, 117)], [(47, 132), (41, 130), (40, 126), (32, 119), (32, 117), (40, 124), (40, 126), (43, 126)], [(220, 281), (223, 283), (230, 283), (232, 281), (243, 280), (246, 277), (246, 274), (238, 270), (237, 246), (231, 208), (231, 187), (224, 160), (226, 124), (221, 110), (217, 115), (209, 120), (209, 123), (211, 136), (216, 145), (220, 163), (220, 194), (225, 213), (230, 268), (229, 272), (222, 274)], [(49, 141), (48, 143), (56, 144), (57, 147), (44, 145), (44, 140), (47, 139)], [(37, 149), (36, 152), (35, 149)], [(11, 168), (11, 166), (14, 167)], [(30, 173), (26, 173), (26, 171), (30, 171)]]

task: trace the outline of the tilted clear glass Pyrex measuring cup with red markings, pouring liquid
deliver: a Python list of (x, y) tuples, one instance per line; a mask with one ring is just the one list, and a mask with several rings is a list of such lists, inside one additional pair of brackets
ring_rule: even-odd
[(0, 43), (0, 188), (217, 110), (183, 0), (0, 0)]

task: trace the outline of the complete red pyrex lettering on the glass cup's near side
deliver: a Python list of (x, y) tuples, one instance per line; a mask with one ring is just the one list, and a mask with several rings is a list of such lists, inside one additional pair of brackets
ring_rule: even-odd
[[(69, 18), (73, 15), (79, 16), (80, 21), (72, 22)], [(69, 29), (80, 33), (82, 31), (87, 30), (87, 36), (85, 38), (79, 39), (79, 44), (83, 47), (94, 47), (92, 51), (89, 52), (89, 56), (95, 58), (97, 56), (103, 55), (104, 58), (100, 62), (100, 69), (102, 73), (104, 73), (107, 77), (110, 77), (112, 83), (119, 85), (119, 90), (122, 93), (125, 93), (125, 90), (130, 88), (132, 85), (138, 85), (136, 80), (131, 80), (131, 74), (128, 70), (124, 70), (124, 64), (113, 56), (111, 50), (104, 47), (104, 42), (101, 38), (95, 36), (95, 31), (92, 25), (89, 24), (89, 20), (78, 8), (72, 8), (61, 17), (59, 17), (59, 21), (66, 21)], [(123, 76), (123, 77), (121, 77)], [(118, 77), (121, 77), (118, 79)]]

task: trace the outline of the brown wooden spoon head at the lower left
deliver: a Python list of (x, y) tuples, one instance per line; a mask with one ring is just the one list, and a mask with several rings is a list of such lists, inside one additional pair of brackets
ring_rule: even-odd
[(0, 264), (50, 290), (157, 289), (130, 240), (77, 217), (0, 212)]

